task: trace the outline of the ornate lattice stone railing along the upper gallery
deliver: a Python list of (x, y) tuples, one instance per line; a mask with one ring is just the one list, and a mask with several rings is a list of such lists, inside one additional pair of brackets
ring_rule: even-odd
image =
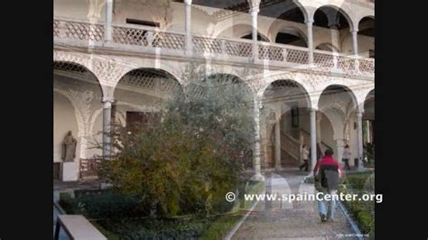
[[(102, 23), (54, 19), (53, 35), (56, 39), (103, 43), (104, 26)], [(193, 53), (199, 56), (211, 55), (213, 57), (246, 59), (253, 56), (253, 42), (251, 40), (192, 35), (191, 42)], [(154, 27), (131, 26), (129, 24), (114, 24), (112, 26), (112, 43), (124, 46), (185, 51), (185, 36), (182, 32), (161, 32)], [(270, 42), (257, 42), (257, 44), (258, 57), (256, 60), (259, 63), (269, 60), (272, 61), (269, 64), (279, 67), (283, 66), (284, 63), (300, 65), (308, 65), (309, 63), (309, 51), (307, 48)], [(356, 58), (340, 53), (318, 50), (313, 53), (312, 66), (324, 71), (339, 71), (352, 75), (373, 76), (375, 71), (375, 61), (373, 59)]]

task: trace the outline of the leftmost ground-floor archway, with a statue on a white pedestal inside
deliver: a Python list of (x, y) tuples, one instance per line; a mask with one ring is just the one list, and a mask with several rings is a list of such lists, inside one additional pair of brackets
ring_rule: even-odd
[[(94, 135), (90, 126), (96, 117), (95, 113), (101, 108), (101, 85), (84, 66), (68, 61), (54, 61), (53, 92), (54, 178), (78, 180), (86, 177), (89, 169), (82, 171), (81, 167), (93, 158), (89, 151), (89, 142)], [(76, 140), (75, 147), (71, 147), (75, 150), (73, 157), (65, 156), (69, 146), (63, 145), (69, 131)], [(65, 162), (75, 167), (64, 168)]]

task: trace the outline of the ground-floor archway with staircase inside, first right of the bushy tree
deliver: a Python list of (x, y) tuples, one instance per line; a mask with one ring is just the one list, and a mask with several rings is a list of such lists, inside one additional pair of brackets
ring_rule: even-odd
[(307, 91), (290, 79), (271, 83), (264, 92), (260, 116), (261, 155), (265, 168), (297, 168), (301, 148), (310, 139)]

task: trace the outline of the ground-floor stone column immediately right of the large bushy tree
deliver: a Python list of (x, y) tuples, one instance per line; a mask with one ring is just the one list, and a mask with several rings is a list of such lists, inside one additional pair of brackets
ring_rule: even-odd
[(255, 175), (252, 177), (253, 180), (265, 180), (261, 173), (260, 167), (260, 107), (261, 102), (258, 99), (254, 101), (254, 120), (255, 120), (255, 145), (253, 153), (253, 167)]

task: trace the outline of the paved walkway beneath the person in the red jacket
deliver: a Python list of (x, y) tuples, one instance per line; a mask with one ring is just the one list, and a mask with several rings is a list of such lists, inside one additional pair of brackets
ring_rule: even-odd
[[(302, 183), (306, 174), (298, 170), (266, 173), (266, 193), (313, 193), (312, 184)], [(260, 201), (232, 239), (337, 239), (347, 235), (352, 239), (352, 234), (340, 208), (336, 208), (333, 223), (321, 223), (316, 201)]]

